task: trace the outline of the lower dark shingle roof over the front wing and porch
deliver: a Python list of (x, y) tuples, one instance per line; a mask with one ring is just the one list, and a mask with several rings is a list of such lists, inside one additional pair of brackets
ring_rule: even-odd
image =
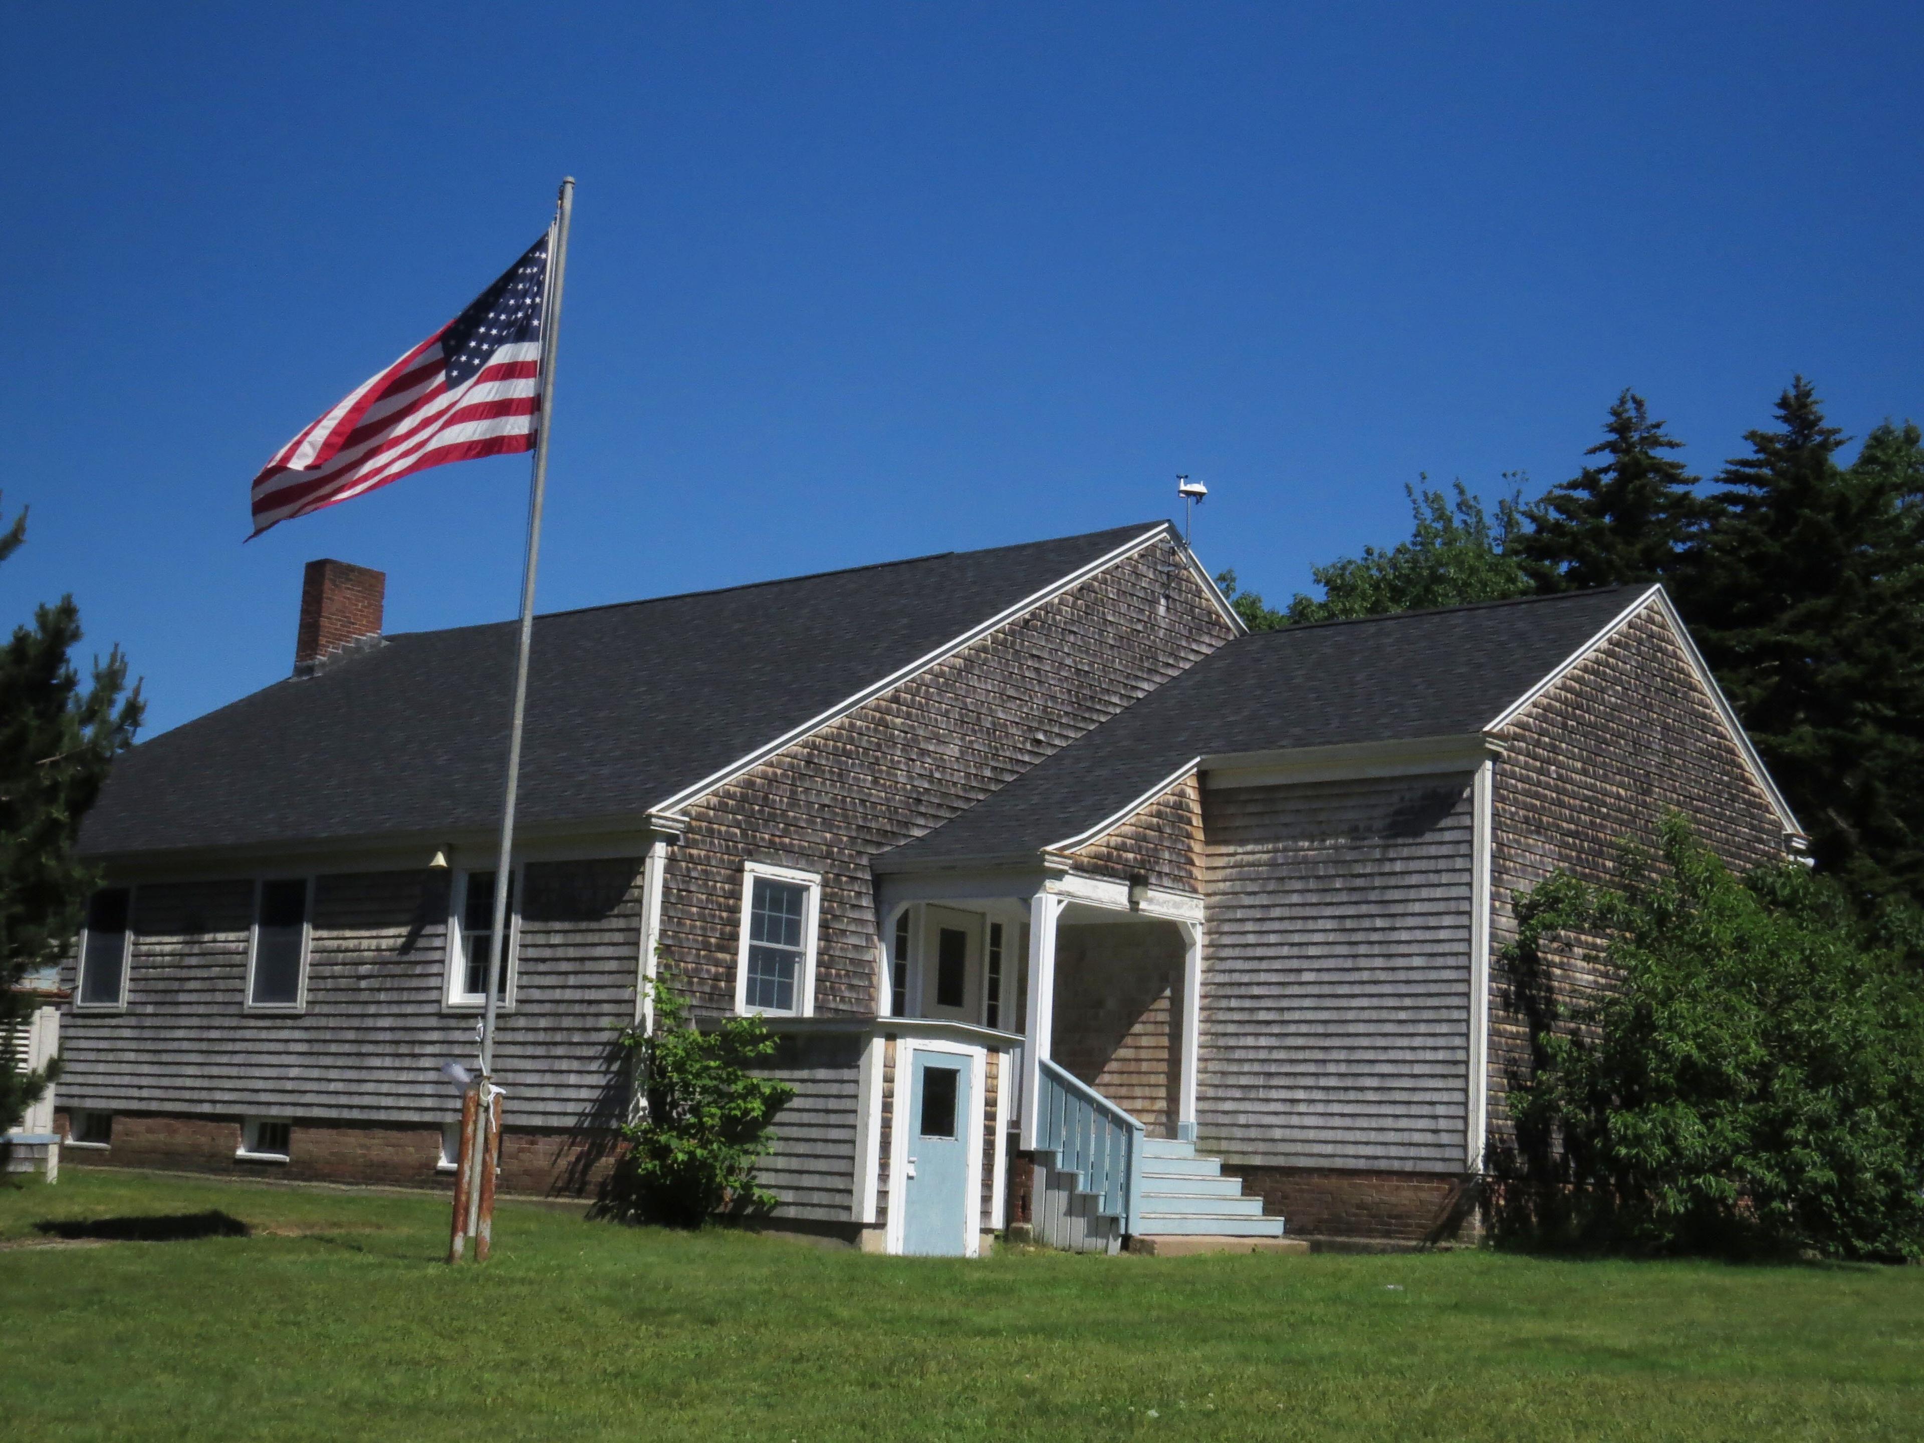
[(1239, 637), (968, 812), (883, 852), (877, 870), (1031, 856), (1197, 756), (1476, 733), (1635, 595), (1603, 587)]

